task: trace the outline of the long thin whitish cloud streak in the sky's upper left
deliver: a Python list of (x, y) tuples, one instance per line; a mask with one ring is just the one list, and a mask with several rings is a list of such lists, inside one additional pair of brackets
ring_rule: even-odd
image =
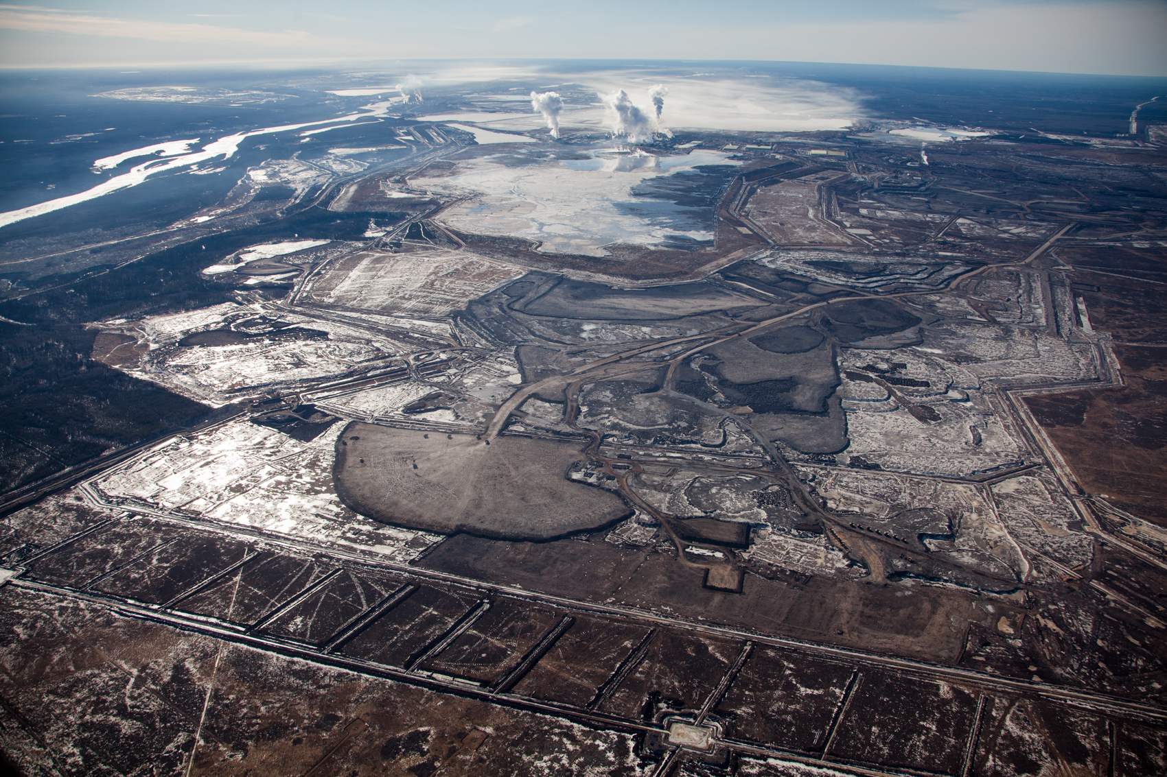
[(235, 27), (216, 27), (188, 22), (161, 22), (116, 19), (53, 12), (26, 10), (20, 6), (0, 6), (0, 29), (22, 33), (50, 33), (98, 37), (128, 37), (161, 43), (228, 43), (260, 47), (334, 48), (349, 43), (338, 38), (316, 37), (303, 30), (257, 32)]

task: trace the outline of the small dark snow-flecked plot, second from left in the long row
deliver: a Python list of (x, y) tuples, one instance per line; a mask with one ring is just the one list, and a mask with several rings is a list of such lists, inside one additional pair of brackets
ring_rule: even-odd
[(81, 588), (175, 536), (173, 527), (154, 522), (111, 524), (33, 562), (30, 576)]

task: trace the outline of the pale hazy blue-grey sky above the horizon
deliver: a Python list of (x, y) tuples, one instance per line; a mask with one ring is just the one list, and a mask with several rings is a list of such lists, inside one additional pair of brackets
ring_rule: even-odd
[(761, 60), (1167, 76), (1167, 0), (58, 0), (0, 66)]

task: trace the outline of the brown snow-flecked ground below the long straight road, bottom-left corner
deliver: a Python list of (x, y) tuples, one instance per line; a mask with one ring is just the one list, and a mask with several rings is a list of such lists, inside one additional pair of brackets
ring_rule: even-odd
[(5, 741), (22, 734), (16, 710), (56, 754), (48, 774), (643, 774), (628, 734), (2, 592)]

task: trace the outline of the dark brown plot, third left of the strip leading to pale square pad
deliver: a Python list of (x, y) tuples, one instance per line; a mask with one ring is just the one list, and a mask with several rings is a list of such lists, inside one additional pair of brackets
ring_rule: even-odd
[(525, 602), (499, 600), (422, 668), (478, 682), (495, 682), (551, 631), (562, 614)]

